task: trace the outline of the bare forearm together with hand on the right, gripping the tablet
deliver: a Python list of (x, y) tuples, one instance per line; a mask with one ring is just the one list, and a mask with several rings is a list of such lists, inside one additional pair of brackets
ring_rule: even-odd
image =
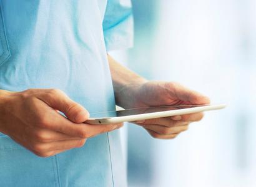
[[(160, 105), (209, 104), (208, 97), (187, 89), (176, 82), (148, 81), (127, 70), (109, 56), (117, 105), (124, 108)], [(154, 138), (172, 139), (188, 129), (189, 123), (203, 118), (203, 113), (175, 117), (155, 118), (134, 122)]]

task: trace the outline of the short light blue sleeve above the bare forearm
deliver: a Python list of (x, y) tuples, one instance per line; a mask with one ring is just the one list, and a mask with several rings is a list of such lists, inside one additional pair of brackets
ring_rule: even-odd
[(107, 51), (132, 47), (133, 25), (130, 0), (108, 0), (103, 21)]

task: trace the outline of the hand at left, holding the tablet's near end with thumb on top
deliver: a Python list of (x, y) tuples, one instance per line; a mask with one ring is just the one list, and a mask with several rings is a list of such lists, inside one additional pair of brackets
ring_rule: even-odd
[(0, 132), (38, 156), (81, 147), (87, 138), (122, 127), (83, 123), (88, 118), (87, 110), (61, 90), (0, 90)]

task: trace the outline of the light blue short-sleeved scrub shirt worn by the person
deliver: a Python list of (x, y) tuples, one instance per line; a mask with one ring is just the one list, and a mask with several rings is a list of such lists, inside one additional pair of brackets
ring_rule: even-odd
[[(129, 0), (1, 0), (0, 89), (61, 89), (114, 110), (107, 51), (132, 45)], [(19, 125), (19, 124), (16, 124)], [(41, 158), (0, 133), (0, 186), (126, 186), (119, 132)]]

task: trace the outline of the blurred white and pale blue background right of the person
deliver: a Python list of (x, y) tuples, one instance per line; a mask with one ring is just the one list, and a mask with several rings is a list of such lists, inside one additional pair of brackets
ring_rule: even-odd
[(184, 84), (225, 110), (174, 140), (122, 132), (129, 186), (256, 186), (256, 1), (134, 0), (133, 49), (116, 59), (150, 80)]

